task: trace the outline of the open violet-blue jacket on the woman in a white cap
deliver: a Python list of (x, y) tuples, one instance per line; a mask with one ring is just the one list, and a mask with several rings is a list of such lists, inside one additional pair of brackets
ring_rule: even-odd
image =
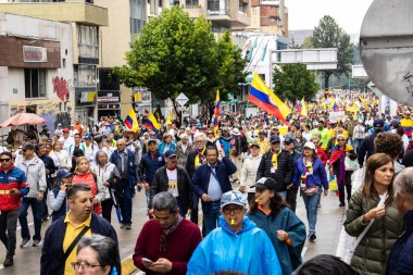
[[(292, 177), (292, 184), (300, 186), (301, 175), (305, 174), (305, 165), (303, 157), (296, 162), (296, 168)], [(328, 190), (327, 173), (322, 160), (317, 157), (313, 160), (313, 174), (306, 176), (306, 187), (323, 186), (324, 190)]]

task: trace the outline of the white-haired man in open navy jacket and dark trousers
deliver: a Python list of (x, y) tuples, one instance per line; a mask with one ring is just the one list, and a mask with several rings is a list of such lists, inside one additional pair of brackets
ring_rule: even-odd
[(117, 149), (111, 155), (111, 162), (116, 165), (120, 172), (123, 196), (120, 196), (122, 225), (121, 228), (132, 229), (132, 195), (133, 188), (137, 184), (137, 163), (136, 155), (126, 149), (124, 139), (117, 140)]

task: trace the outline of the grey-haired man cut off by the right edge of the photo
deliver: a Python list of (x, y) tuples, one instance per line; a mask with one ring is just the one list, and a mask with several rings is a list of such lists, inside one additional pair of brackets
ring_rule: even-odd
[(387, 259), (387, 275), (413, 274), (413, 167), (402, 170), (395, 179), (396, 203), (404, 215), (405, 230)]

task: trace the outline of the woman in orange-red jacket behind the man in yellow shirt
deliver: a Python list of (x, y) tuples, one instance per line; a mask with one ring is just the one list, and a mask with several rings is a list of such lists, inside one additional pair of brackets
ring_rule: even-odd
[(91, 188), (93, 195), (93, 211), (95, 213), (102, 214), (102, 205), (100, 202), (105, 197), (103, 186), (98, 186), (97, 176), (90, 168), (89, 160), (86, 157), (77, 159), (75, 175), (72, 178), (72, 185), (87, 184)]

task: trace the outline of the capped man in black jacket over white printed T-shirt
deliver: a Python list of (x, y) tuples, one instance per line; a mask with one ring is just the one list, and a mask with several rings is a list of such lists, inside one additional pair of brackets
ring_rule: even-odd
[(159, 168), (151, 185), (150, 208), (152, 209), (153, 197), (157, 193), (167, 191), (174, 196), (178, 202), (179, 214), (185, 216), (192, 209), (192, 190), (188, 173), (177, 165), (176, 151), (165, 152), (166, 165)]

